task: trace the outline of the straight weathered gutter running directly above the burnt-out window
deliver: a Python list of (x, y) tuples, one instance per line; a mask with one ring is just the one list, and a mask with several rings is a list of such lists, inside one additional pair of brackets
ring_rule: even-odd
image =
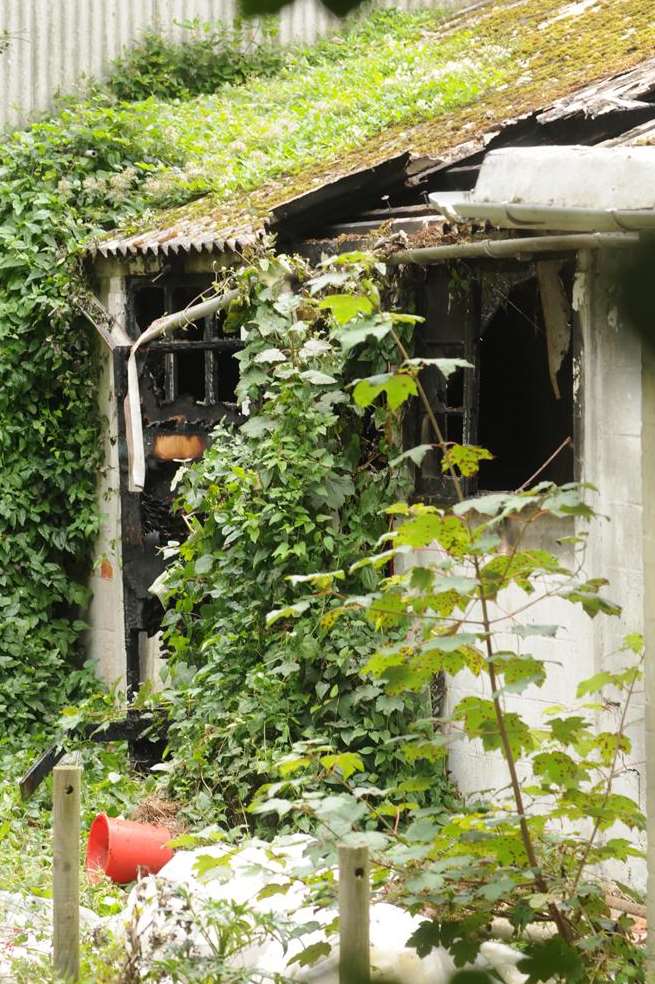
[(389, 257), (388, 262), (395, 265), (403, 263), (443, 263), (447, 260), (473, 257), (484, 259), (492, 257), (514, 257), (562, 253), (567, 250), (614, 249), (635, 246), (639, 242), (637, 233), (593, 232), (567, 236), (526, 236), (520, 239), (481, 239), (478, 242), (449, 243), (446, 246), (427, 246), (422, 249), (402, 249)]

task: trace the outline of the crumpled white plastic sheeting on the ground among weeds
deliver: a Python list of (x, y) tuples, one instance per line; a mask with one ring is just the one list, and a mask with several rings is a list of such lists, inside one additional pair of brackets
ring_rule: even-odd
[[(303, 863), (308, 864), (304, 853), (310, 843), (311, 838), (296, 834), (276, 838), (271, 844), (252, 840), (236, 853), (227, 845), (179, 851), (159, 875), (144, 878), (132, 889), (125, 912), (114, 922), (114, 932), (125, 937), (132, 974), (139, 979), (176, 955), (184, 954), (196, 966), (203, 959), (211, 959), (220, 937), (217, 910), (212, 916), (212, 904), (245, 904), (260, 917), (274, 917), (275, 925), (287, 932), (312, 922), (330, 926), (337, 917), (336, 909), (315, 909), (302, 882), (291, 876)], [(200, 877), (196, 869), (199, 857), (224, 858), (226, 863), (211, 868), (206, 865), (208, 874)], [(266, 886), (285, 885), (287, 879), (287, 891), (260, 897)], [(448, 984), (455, 967), (447, 951), (436, 948), (420, 959), (406, 946), (422, 921), (422, 917), (388, 903), (371, 906), (373, 980)], [(240, 950), (232, 965), (252, 971), (254, 980), (260, 979), (258, 971), (266, 971), (271, 976), (283, 974), (285, 980), (338, 984), (338, 941), (334, 935), (331, 953), (313, 965), (303, 967), (293, 960), (305, 947), (324, 939), (325, 933), (316, 929), (301, 938), (291, 938), (285, 949), (272, 936), (260, 936)], [(516, 968), (520, 959), (518, 951), (490, 941), (483, 943), (476, 966), (494, 970), (504, 984), (523, 984), (527, 977)]]

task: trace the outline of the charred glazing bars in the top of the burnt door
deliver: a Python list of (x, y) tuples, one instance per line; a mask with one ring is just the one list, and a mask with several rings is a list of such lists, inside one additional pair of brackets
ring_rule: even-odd
[[(136, 341), (148, 327), (139, 327), (137, 322), (137, 294), (145, 288), (161, 290), (164, 297), (163, 317), (175, 311), (183, 310), (175, 301), (175, 293), (181, 288), (195, 291), (195, 303), (200, 303), (205, 299), (204, 295), (209, 293), (214, 283), (211, 273), (167, 273), (155, 277), (131, 276), (127, 278), (127, 330), (130, 338)], [(237, 410), (239, 404), (235, 400), (222, 400), (220, 398), (220, 374), (219, 374), (219, 354), (226, 353), (234, 355), (243, 349), (244, 342), (238, 336), (234, 338), (220, 335), (220, 322), (216, 314), (208, 315), (199, 321), (190, 322), (190, 325), (203, 324), (203, 337), (201, 339), (188, 339), (176, 334), (170, 338), (156, 339), (148, 344), (144, 350), (147, 357), (148, 352), (160, 353), (164, 356), (164, 398), (162, 407), (172, 406), (177, 400), (190, 397), (191, 394), (179, 392), (179, 362), (178, 358), (185, 352), (200, 351), (204, 354), (203, 360), (203, 393), (202, 400), (194, 402), (199, 407), (226, 407)], [(184, 329), (181, 329), (182, 335)]]

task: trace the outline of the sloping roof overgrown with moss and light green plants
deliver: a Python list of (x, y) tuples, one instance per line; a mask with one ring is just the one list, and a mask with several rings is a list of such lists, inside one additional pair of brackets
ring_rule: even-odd
[(151, 179), (138, 226), (109, 253), (234, 248), (276, 206), (402, 152), (440, 159), (482, 145), (655, 52), (652, 0), (496, 0), (458, 16), (385, 12), (292, 57), (274, 79), (135, 107), (183, 162)]

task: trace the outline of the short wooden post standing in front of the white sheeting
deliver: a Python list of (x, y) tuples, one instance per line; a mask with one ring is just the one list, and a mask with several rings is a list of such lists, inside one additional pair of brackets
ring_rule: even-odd
[(339, 984), (369, 984), (369, 862), (367, 847), (339, 853)]

